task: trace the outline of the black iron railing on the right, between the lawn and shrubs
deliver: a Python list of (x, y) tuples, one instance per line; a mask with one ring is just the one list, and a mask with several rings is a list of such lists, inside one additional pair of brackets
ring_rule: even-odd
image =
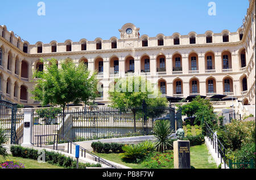
[(205, 122), (205, 129), (207, 132), (207, 137), (210, 141), (210, 144), (213, 146), (213, 149), (215, 150), (215, 153), (218, 153), (218, 158), (224, 160), (224, 168), (226, 169), (226, 149), (224, 145), (218, 140), (216, 134), (212, 131), (212, 129), (209, 127), (209, 125)]

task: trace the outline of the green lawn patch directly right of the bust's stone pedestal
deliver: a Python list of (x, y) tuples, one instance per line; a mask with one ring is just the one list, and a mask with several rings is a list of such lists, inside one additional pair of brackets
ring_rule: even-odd
[[(208, 154), (209, 151), (205, 144), (191, 147), (191, 166), (196, 169), (217, 169), (217, 165), (214, 162), (212, 155)], [(210, 158), (209, 158), (210, 157)], [(213, 161), (212, 163), (208, 162)]]

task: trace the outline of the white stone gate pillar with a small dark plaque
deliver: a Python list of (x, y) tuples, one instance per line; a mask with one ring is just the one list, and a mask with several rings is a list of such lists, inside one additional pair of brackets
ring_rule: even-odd
[(32, 108), (24, 108), (24, 129), (23, 129), (23, 143), (22, 145), (32, 145), (32, 129), (33, 129), (33, 114)]

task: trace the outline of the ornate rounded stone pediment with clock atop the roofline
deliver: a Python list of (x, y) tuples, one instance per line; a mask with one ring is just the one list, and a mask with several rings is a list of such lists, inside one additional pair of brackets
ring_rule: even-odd
[(120, 32), (120, 39), (134, 39), (139, 38), (139, 28), (135, 27), (134, 24), (127, 23), (123, 25)]

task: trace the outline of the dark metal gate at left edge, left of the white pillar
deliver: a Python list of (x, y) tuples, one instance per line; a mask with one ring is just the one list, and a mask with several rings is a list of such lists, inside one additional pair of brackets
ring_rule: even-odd
[(17, 115), (17, 104), (0, 99), (0, 125), (5, 129), (6, 144), (21, 144), (23, 141), (23, 113)]

